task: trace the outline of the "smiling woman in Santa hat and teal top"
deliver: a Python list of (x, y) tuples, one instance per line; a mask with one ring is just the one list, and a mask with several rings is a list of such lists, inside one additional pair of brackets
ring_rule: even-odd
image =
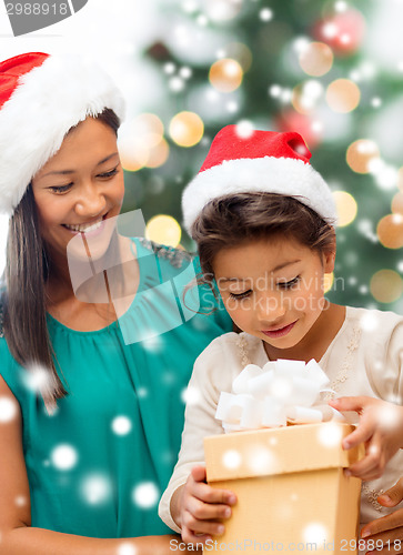
[(0, 63), (0, 554), (169, 553), (183, 392), (231, 327), (208, 290), (183, 303), (187, 253), (117, 232), (122, 107), (79, 58)]

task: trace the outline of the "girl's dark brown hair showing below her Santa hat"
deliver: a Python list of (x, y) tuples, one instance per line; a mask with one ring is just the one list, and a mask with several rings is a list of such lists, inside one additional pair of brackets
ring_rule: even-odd
[(203, 281), (213, 284), (213, 262), (221, 249), (243, 242), (286, 236), (319, 253), (334, 250), (334, 229), (292, 196), (238, 193), (214, 199), (192, 225)]

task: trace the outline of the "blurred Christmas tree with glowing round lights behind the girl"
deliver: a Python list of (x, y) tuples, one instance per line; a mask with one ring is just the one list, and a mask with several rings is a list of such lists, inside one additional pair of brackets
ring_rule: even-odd
[(396, 10), (395, 0), (162, 0), (143, 56), (164, 101), (122, 130), (125, 210), (142, 209), (151, 239), (192, 249), (181, 193), (219, 129), (299, 131), (340, 215), (329, 299), (401, 312), (403, 58), (391, 60), (385, 37), (399, 36)]

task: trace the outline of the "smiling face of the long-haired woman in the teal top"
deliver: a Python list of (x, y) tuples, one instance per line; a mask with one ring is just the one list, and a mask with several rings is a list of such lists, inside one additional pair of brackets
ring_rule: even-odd
[(66, 260), (74, 235), (93, 240), (120, 212), (124, 183), (114, 131), (92, 118), (79, 123), (34, 175), (32, 191), (52, 260)]

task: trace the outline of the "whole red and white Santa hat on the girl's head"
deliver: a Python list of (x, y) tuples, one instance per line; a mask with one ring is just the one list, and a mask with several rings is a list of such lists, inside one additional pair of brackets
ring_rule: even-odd
[(295, 132), (253, 131), (226, 125), (213, 140), (198, 175), (182, 196), (188, 232), (213, 199), (234, 193), (278, 193), (293, 196), (326, 222), (336, 223), (329, 185), (310, 164), (311, 152)]

